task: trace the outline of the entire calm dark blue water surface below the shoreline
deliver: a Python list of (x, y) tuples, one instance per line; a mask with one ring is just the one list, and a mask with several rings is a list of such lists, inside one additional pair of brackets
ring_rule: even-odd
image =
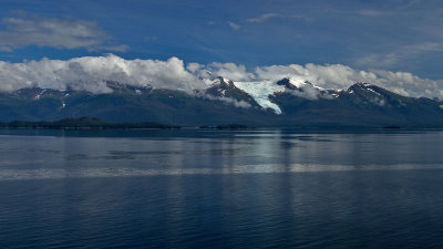
[(443, 133), (0, 131), (0, 248), (443, 248)]

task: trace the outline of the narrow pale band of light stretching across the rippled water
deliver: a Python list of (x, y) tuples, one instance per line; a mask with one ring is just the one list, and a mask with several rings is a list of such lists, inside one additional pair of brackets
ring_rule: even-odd
[(39, 168), (39, 169), (0, 169), (0, 180), (96, 178), (127, 176), (181, 176), (181, 175), (238, 175), (238, 174), (288, 174), (320, 172), (364, 172), (364, 170), (423, 170), (443, 169), (443, 164), (435, 165), (241, 165), (225, 168)]

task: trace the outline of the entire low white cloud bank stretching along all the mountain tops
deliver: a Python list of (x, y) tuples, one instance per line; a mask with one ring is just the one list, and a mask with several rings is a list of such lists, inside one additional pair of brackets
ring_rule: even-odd
[(341, 64), (289, 64), (258, 66), (248, 70), (235, 63), (185, 63), (171, 58), (159, 60), (124, 60), (106, 56), (75, 58), (68, 61), (43, 59), (23, 63), (0, 61), (0, 91), (39, 86), (43, 89), (83, 90), (107, 93), (105, 81), (119, 81), (134, 86), (152, 85), (192, 92), (207, 87), (213, 76), (235, 82), (276, 82), (284, 77), (309, 81), (323, 89), (346, 89), (356, 82), (377, 84), (406, 96), (443, 98), (443, 81), (422, 79), (408, 72), (383, 70), (359, 71)]

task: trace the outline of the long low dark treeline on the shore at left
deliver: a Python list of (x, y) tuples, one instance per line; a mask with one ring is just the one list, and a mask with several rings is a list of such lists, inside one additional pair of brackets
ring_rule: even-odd
[(179, 128), (176, 125), (165, 125), (152, 122), (114, 123), (95, 117), (64, 118), (60, 121), (13, 121), (0, 123), (0, 128)]

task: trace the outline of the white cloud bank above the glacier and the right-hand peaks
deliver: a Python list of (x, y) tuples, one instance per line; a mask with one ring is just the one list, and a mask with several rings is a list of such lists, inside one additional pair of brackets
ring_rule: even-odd
[(227, 79), (231, 76), (230, 80), (237, 82), (260, 84), (291, 77), (299, 82), (309, 81), (323, 89), (347, 89), (356, 82), (367, 82), (405, 96), (443, 98), (443, 80), (423, 79), (408, 72), (360, 71), (342, 64), (318, 65), (311, 63), (258, 66), (254, 73), (247, 71), (243, 65), (233, 63), (212, 63), (207, 68)]

